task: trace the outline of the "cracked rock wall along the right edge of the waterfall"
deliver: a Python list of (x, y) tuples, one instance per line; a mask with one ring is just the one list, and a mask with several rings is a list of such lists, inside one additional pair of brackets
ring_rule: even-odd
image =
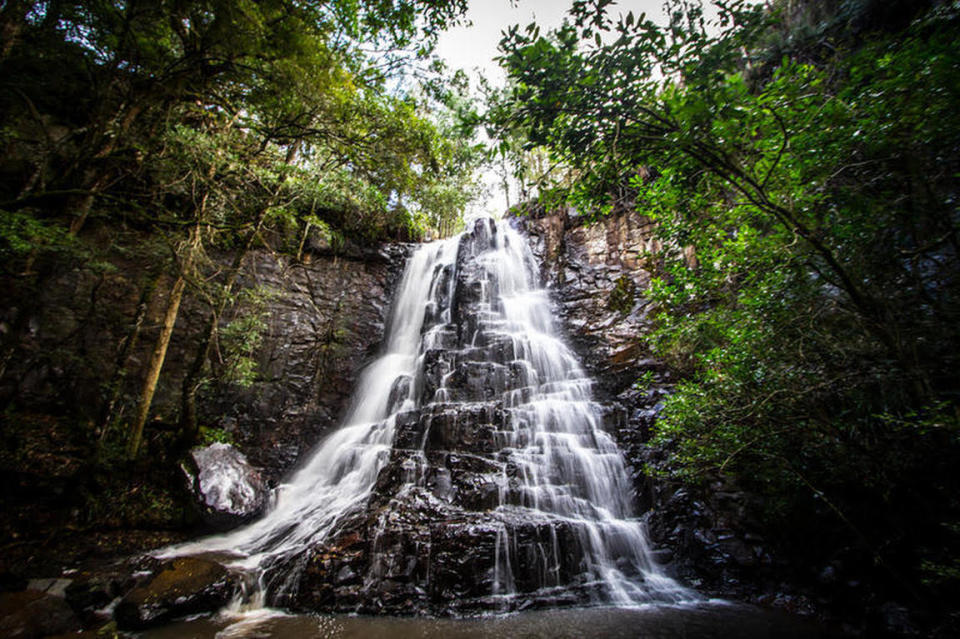
[[(787, 607), (805, 606), (779, 594), (777, 570), (783, 566), (774, 565), (764, 540), (751, 532), (749, 495), (719, 480), (692, 492), (643, 472), (663, 454), (649, 439), (672, 383), (644, 345), (652, 310), (644, 291), (660, 250), (649, 220), (625, 211), (585, 225), (573, 211), (558, 210), (518, 222), (540, 259), (570, 343), (608, 401), (625, 410), (617, 438), (660, 557), (672, 559), (674, 574), (706, 593), (759, 601), (786, 597)], [(647, 381), (635, 387), (644, 375)]]

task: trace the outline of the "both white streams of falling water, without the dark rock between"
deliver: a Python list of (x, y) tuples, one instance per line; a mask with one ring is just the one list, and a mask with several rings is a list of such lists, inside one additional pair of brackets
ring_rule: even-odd
[[(477, 316), (482, 319), (464, 349), (453, 353), (506, 342), (513, 359), (499, 363), (518, 370), (520, 378), (495, 398), (508, 417), (496, 433), (496, 459), (504, 470), (492, 514), (504, 524), (496, 532), (491, 594), (509, 596), (515, 590), (511, 523), (537, 521), (574, 531), (583, 555), (581, 582), (602, 593), (602, 600), (630, 605), (690, 599), (692, 593), (663, 576), (650, 560), (643, 527), (634, 517), (622, 454), (601, 428), (591, 380), (557, 335), (527, 243), (506, 223), (482, 224), (477, 237), (484, 239), (474, 242), (475, 254), (469, 257), (479, 266)], [(388, 461), (396, 416), (421, 408), (423, 353), (440, 347), (445, 327), (450, 328), (458, 245), (459, 238), (425, 245), (411, 258), (395, 298), (385, 353), (363, 372), (344, 425), (279, 489), (272, 510), (245, 528), (173, 547), (160, 556), (226, 552), (236, 557), (234, 566), (262, 575), (276, 560), (327, 539), (366, 503)], [(405, 397), (388, 405), (391, 390), (404, 378), (411, 382)], [(449, 405), (456, 390), (441, 386), (433, 401)], [(416, 466), (425, 463), (422, 454), (414, 459), (410, 468), (404, 466), (410, 484), (422, 477)], [(537, 551), (541, 582), (562, 587), (557, 529), (550, 531)], [(256, 601), (262, 602), (262, 592)]]

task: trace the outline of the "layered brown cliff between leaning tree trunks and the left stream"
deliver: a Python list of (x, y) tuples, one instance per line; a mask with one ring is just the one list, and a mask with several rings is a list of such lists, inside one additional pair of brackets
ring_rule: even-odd
[(257, 351), (258, 380), (205, 394), (207, 423), (235, 434), (250, 461), (276, 479), (337, 425), (383, 337), (409, 247), (293, 263), (249, 260), (242, 283), (275, 291)]

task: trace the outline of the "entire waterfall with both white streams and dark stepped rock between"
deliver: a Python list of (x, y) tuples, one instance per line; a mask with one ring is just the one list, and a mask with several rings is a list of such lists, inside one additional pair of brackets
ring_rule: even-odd
[(344, 426), (225, 552), (284, 603), (351, 611), (676, 602), (591, 380), (507, 223), (422, 247)]

